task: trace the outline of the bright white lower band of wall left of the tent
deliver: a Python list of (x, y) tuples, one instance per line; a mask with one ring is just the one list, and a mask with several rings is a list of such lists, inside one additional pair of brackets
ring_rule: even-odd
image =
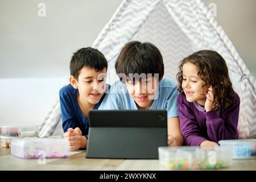
[(0, 126), (40, 125), (66, 77), (0, 79)]

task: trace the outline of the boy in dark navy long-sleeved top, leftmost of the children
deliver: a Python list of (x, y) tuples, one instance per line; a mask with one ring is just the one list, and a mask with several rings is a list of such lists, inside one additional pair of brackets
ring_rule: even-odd
[(69, 68), (70, 84), (59, 92), (64, 139), (71, 149), (86, 148), (88, 111), (98, 109), (105, 96), (108, 62), (100, 51), (87, 47), (73, 54)]

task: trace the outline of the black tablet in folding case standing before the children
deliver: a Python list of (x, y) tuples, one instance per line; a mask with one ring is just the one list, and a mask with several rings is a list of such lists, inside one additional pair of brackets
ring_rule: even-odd
[(86, 158), (158, 159), (166, 110), (90, 110)]

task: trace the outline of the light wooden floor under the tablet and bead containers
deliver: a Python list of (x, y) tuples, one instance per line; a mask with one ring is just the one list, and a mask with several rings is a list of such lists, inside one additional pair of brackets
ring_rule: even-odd
[[(158, 160), (86, 159), (85, 151), (71, 151), (69, 158), (20, 159), (11, 155), (10, 148), (0, 147), (0, 170), (168, 170)], [(219, 169), (220, 170), (220, 169)], [(256, 170), (256, 159), (232, 160), (230, 168), (223, 170)]]

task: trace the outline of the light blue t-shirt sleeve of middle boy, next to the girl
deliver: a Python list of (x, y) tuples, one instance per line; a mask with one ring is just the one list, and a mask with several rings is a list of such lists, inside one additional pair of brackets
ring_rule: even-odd
[(167, 118), (178, 117), (177, 110), (177, 96), (179, 92), (177, 90), (177, 85), (171, 88), (168, 92), (167, 100), (166, 100), (166, 110), (167, 110)]

